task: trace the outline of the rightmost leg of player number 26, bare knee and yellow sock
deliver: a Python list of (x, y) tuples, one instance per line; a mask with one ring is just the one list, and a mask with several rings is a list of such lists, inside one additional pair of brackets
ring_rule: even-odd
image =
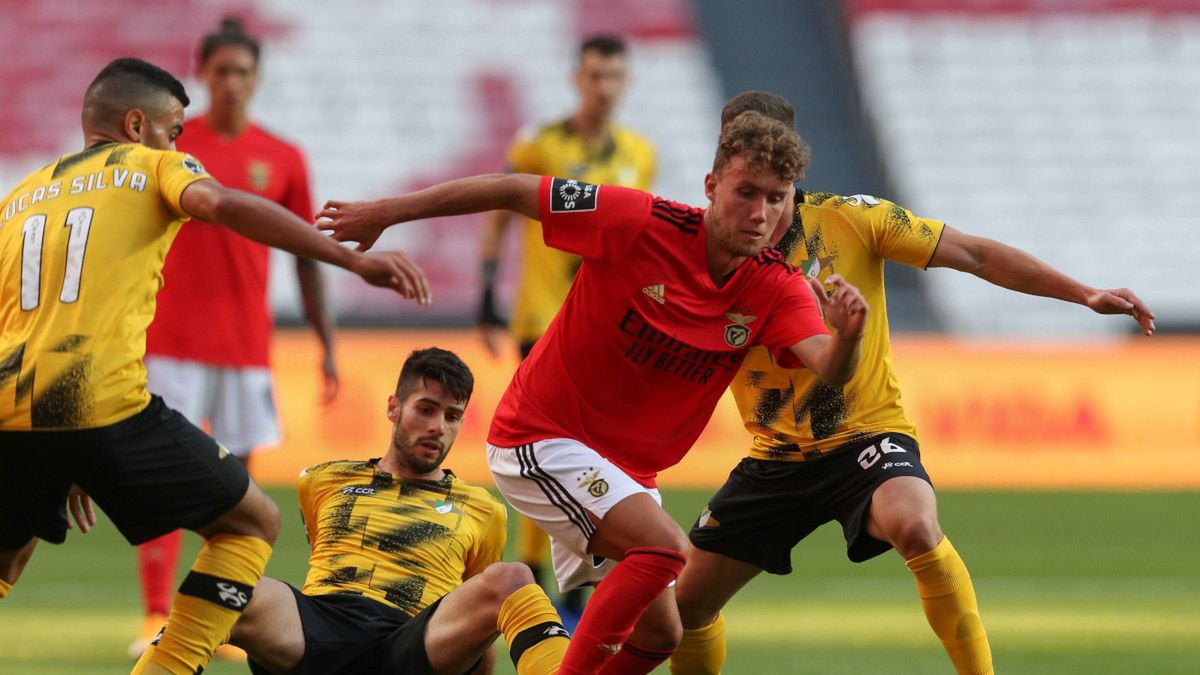
[(917, 580), (925, 617), (959, 673), (992, 673), (991, 647), (974, 586), (962, 558), (942, 533), (937, 497), (920, 478), (892, 478), (875, 490), (866, 532), (888, 542)]

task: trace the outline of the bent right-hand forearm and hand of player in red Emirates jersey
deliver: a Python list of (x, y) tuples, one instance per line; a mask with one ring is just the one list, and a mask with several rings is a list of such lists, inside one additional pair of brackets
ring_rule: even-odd
[(822, 382), (841, 387), (850, 382), (858, 368), (859, 344), (866, 325), (866, 300), (858, 288), (838, 274), (826, 280), (833, 286), (829, 295), (826, 295), (820, 281), (810, 279), (809, 283), (834, 334), (805, 338), (792, 345), (791, 351)]

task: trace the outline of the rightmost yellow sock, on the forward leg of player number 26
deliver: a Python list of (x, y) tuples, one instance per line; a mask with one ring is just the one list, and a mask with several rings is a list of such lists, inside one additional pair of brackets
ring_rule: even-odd
[(917, 579), (917, 593), (929, 626), (942, 640), (960, 674), (990, 675), (991, 647), (979, 620), (971, 574), (959, 552), (943, 538), (934, 550), (905, 561)]

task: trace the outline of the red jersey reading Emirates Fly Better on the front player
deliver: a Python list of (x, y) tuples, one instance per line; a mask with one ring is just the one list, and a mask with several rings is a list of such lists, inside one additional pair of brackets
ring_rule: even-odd
[(500, 400), (493, 446), (574, 438), (653, 486), (751, 346), (778, 352), (828, 333), (803, 273), (773, 249), (718, 288), (703, 209), (548, 177), (539, 202), (546, 244), (583, 263)]

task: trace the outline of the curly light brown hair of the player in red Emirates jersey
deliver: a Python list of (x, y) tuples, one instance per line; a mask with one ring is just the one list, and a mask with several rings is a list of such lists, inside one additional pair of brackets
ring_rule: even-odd
[(720, 172), (736, 155), (746, 150), (752, 153), (750, 166), (767, 167), (788, 183), (804, 178), (811, 157), (800, 135), (755, 110), (733, 118), (721, 129), (713, 171)]

